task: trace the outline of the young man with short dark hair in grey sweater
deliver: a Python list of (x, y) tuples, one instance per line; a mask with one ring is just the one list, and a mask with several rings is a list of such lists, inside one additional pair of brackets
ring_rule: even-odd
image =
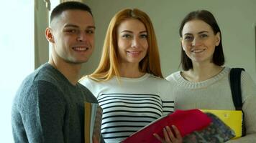
[(94, 48), (91, 9), (65, 2), (53, 9), (45, 31), (52, 44), (48, 63), (30, 74), (13, 102), (14, 142), (84, 142), (84, 102), (95, 102), (78, 83)]

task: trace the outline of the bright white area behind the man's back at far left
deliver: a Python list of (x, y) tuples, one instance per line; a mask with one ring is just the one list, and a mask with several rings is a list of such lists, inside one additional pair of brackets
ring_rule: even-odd
[(0, 142), (13, 142), (12, 99), (24, 77), (34, 70), (34, 2), (1, 2)]

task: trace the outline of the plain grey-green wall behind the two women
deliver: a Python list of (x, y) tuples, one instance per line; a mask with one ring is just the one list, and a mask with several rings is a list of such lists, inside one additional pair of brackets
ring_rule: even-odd
[(180, 63), (180, 21), (190, 11), (207, 9), (219, 23), (226, 65), (244, 67), (256, 82), (254, 0), (86, 0), (96, 21), (96, 49), (83, 66), (83, 74), (90, 74), (99, 64), (101, 48), (109, 21), (123, 8), (138, 8), (149, 14), (160, 47), (164, 76), (178, 70)]

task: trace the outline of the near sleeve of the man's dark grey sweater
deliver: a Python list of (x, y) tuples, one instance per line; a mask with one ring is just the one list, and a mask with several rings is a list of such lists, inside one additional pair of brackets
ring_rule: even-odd
[(29, 142), (64, 142), (65, 100), (49, 82), (35, 82), (24, 99), (21, 112)]

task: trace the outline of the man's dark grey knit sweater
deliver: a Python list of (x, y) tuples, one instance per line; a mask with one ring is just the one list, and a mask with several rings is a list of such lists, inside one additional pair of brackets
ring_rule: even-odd
[(14, 142), (84, 142), (84, 101), (97, 103), (86, 87), (70, 84), (43, 64), (24, 79), (14, 98)]

